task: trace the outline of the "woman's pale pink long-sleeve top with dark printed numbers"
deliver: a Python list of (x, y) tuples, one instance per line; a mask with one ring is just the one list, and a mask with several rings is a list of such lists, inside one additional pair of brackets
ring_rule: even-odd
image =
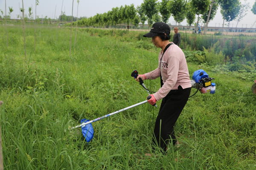
[[(162, 55), (163, 58), (160, 63)], [(158, 68), (145, 74), (147, 79), (156, 79), (160, 77), (161, 71), (164, 84), (154, 94), (156, 100), (163, 99), (171, 90), (177, 90), (179, 85), (183, 89), (191, 87), (185, 55), (177, 45), (172, 44), (169, 46), (164, 54), (160, 51), (158, 61)]]

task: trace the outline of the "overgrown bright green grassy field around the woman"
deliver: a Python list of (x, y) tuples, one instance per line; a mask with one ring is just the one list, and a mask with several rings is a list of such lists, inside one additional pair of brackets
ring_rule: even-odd
[[(148, 94), (131, 78), (157, 67), (159, 49), (145, 50), (116, 36), (70, 29), (0, 27), (0, 108), (5, 170), (255, 170), (256, 95), (252, 81), (209, 71), (212, 94), (196, 94), (175, 130), (181, 143), (166, 155), (151, 152), (158, 109), (144, 104), (94, 122), (94, 138), (84, 142), (80, 119), (95, 119), (144, 101)], [(36, 32), (36, 48), (34, 40)], [(141, 32), (132, 34), (140, 36)], [(144, 40), (142, 45), (150, 45)], [(152, 91), (160, 80), (146, 80)], [(192, 92), (195, 92), (193, 90)], [(157, 102), (160, 105), (160, 101)]]

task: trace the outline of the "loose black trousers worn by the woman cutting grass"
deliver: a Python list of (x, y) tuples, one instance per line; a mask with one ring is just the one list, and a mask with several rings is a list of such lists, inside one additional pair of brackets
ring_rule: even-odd
[(178, 90), (171, 90), (169, 94), (163, 98), (155, 122), (154, 136), (152, 139), (153, 146), (157, 145), (158, 147), (161, 147), (163, 151), (166, 151), (170, 136), (173, 144), (176, 143), (177, 140), (173, 128), (189, 99), (190, 91), (191, 88), (183, 89), (179, 85)]

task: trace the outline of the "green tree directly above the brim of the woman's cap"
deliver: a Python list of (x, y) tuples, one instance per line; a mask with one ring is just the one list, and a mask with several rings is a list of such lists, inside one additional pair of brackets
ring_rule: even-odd
[(145, 15), (148, 17), (148, 26), (151, 26), (153, 15), (157, 14), (157, 0), (143, 0), (141, 4)]

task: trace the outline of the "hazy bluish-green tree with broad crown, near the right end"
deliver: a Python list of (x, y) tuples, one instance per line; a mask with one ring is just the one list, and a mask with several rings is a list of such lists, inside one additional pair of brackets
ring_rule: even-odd
[[(240, 11), (240, 2), (239, 0), (219, 0), (221, 6), (221, 14), (224, 20), (228, 22), (228, 27), (230, 25), (230, 21), (233, 21), (239, 11)], [(223, 21), (224, 27), (224, 21)]]

